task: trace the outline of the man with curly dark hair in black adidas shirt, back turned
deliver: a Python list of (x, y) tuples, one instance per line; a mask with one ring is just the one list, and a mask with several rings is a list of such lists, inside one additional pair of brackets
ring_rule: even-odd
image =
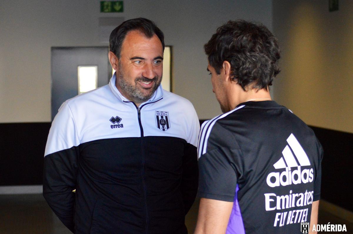
[(198, 140), (196, 234), (300, 233), (317, 223), (323, 150), (313, 131), (271, 99), (277, 39), (261, 24), (228, 21), (204, 46), (223, 115)]

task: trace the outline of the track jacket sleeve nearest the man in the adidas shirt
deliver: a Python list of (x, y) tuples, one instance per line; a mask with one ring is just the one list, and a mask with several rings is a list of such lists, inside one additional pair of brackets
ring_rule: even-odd
[(192, 125), (189, 128), (189, 138), (184, 149), (183, 176), (181, 179), (181, 193), (183, 195), (185, 215), (189, 212), (195, 201), (198, 188), (197, 167), (197, 137), (200, 131), (200, 123), (196, 111), (193, 110)]

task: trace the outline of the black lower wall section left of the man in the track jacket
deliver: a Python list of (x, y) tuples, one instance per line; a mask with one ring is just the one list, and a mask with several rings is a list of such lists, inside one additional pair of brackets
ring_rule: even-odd
[(42, 184), (51, 123), (0, 124), (0, 186)]

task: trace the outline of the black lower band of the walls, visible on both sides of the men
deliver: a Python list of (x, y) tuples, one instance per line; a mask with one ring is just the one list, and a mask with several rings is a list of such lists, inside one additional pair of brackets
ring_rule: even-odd
[[(203, 123), (204, 120), (200, 120)], [(0, 124), (0, 186), (42, 184), (51, 123)], [(353, 211), (353, 134), (311, 127), (324, 148), (321, 198)]]

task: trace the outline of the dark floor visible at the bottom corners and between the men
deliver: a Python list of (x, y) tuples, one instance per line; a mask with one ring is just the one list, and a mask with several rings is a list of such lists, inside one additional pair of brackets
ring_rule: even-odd
[[(199, 199), (186, 216), (186, 226), (192, 234), (197, 220)], [(345, 221), (319, 210), (319, 223), (346, 224), (353, 234), (353, 220)], [(0, 234), (70, 234), (71, 232), (50, 210), (41, 194), (0, 195)], [(299, 232), (298, 232), (299, 233)], [(319, 232), (323, 234), (325, 232)], [(336, 232), (329, 232), (336, 233)]]

